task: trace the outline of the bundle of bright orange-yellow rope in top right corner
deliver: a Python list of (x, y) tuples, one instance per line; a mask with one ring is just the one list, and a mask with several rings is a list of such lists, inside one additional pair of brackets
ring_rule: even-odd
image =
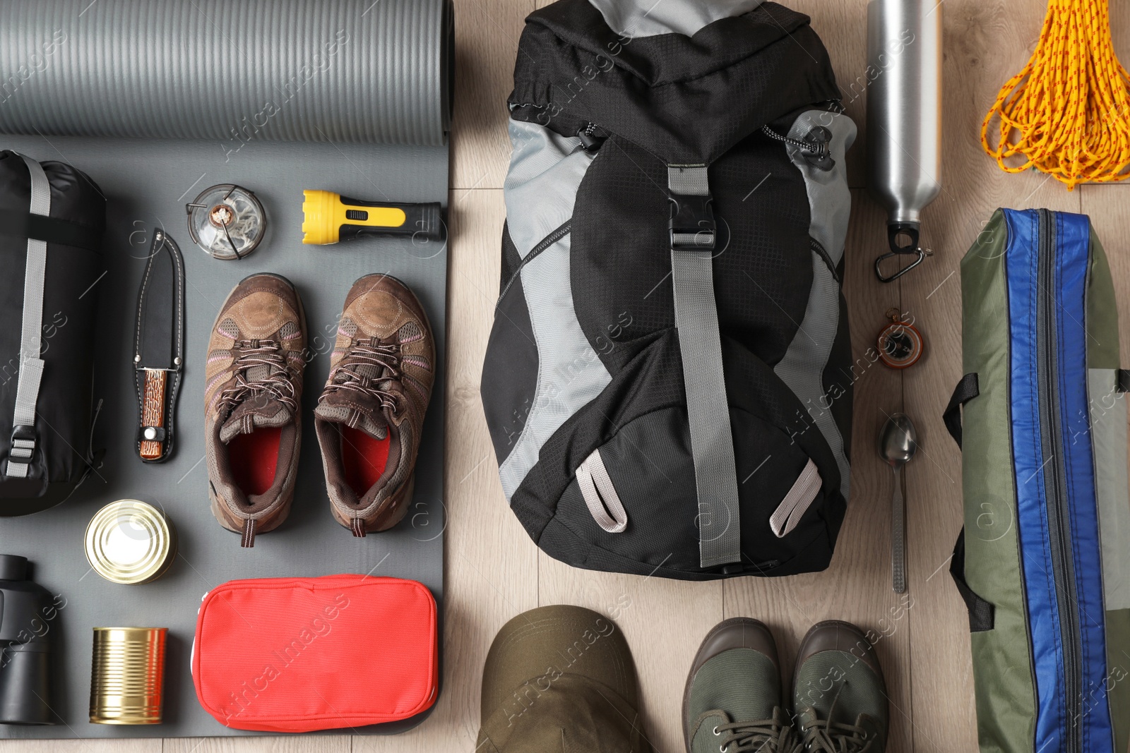
[[(1001, 169), (1034, 167), (1068, 191), (1083, 182), (1125, 180), (1128, 88), (1130, 75), (1111, 42), (1110, 0), (1050, 0), (1036, 50), (1001, 87), (981, 125), (981, 146)], [(994, 115), (996, 147), (989, 143)], [(1025, 161), (1009, 159), (1016, 155)]]

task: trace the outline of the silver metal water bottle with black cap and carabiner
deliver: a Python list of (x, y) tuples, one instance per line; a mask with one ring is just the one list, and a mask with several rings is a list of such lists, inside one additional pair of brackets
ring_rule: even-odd
[[(875, 262), (884, 282), (929, 253), (919, 245), (919, 228), (920, 213), (941, 191), (942, 2), (870, 0), (867, 7), (868, 185), (887, 210), (890, 251)], [(885, 275), (880, 264), (895, 254), (915, 259)]]

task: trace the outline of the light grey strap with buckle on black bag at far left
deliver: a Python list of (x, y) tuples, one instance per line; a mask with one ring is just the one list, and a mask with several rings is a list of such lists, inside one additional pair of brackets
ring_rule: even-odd
[[(51, 214), (51, 184), (40, 163), (20, 155), (32, 177), (32, 214)], [(43, 378), (40, 358), (43, 332), (43, 286), (47, 272), (47, 243), (27, 239), (27, 269), (24, 272), (24, 323), (19, 336), (19, 379), (16, 383), (16, 411), (11, 421), (11, 450), (7, 475), (27, 478), (35, 456), (35, 404)]]

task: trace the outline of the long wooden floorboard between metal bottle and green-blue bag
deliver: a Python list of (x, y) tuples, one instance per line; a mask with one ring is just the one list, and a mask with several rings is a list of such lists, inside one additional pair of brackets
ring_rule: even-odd
[(921, 444), (906, 474), (920, 753), (977, 750), (968, 622), (947, 571), (962, 527), (960, 454), (941, 421), (962, 376), (959, 263), (998, 207), (1079, 211), (1079, 192), (1068, 193), (1038, 173), (1007, 174), (980, 145), (982, 119), (1031, 54), (1044, 9), (1042, 0), (948, 0), (944, 8), (944, 190), (922, 217), (923, 245), (935, 256), (902, 282), (904, 308), (920, 323), (929, 349), (904, 377), (906, 412)]

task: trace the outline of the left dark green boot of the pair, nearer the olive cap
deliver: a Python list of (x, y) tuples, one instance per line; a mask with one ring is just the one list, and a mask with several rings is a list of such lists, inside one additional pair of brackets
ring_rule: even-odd
[(800, 752), (768, 628), (734, 618), (706, 633), (683, 694), (683, 737), (689, 753)]

